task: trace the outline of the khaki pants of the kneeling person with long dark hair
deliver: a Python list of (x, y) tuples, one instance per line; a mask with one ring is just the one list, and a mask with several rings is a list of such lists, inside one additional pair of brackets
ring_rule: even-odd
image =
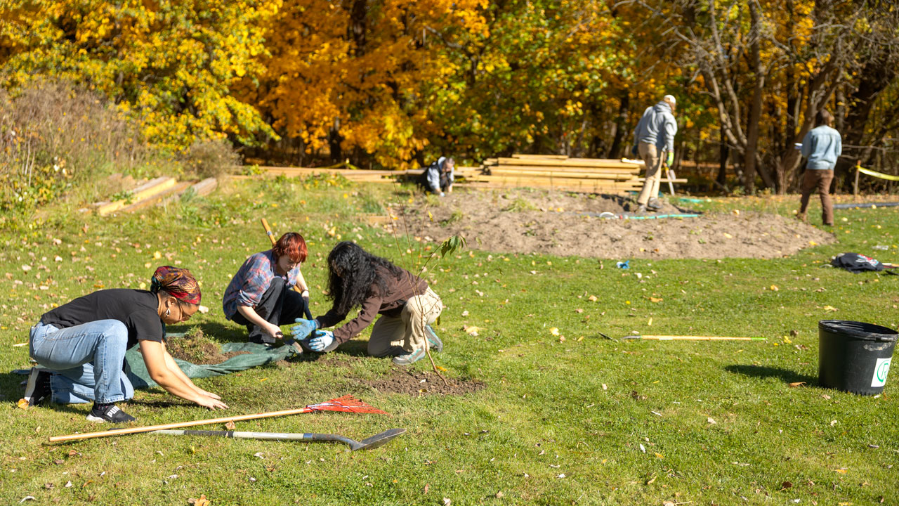
[(441, 311), (441, 298), (430, 287), (424, 294), (412, 297), (400, 316), (381, 316), (375, 321), (369, 338), (369, 355), (395, 357), (428, 346), (424, 326), (437, 320)]

